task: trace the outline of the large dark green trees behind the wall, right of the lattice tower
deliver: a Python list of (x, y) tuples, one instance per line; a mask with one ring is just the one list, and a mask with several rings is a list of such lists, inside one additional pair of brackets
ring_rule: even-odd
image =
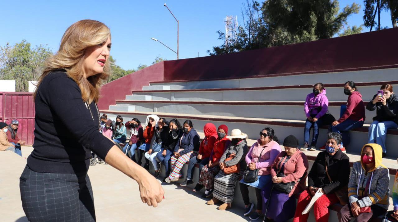
[[(236, 38), (224, 37), (218, 31), (225, 44), (213, 47), (208, 53), (216, 55), (331, 38), (347, 25), (347, 17), (357, 14), (359, 9), (353, 3), (339, 12), (338, 0), (265, 0), (262, 4), (247, 0), (242, 9), (243, 25), (234, 29)], [(355, 27), (351, 32), (359, 29)]]

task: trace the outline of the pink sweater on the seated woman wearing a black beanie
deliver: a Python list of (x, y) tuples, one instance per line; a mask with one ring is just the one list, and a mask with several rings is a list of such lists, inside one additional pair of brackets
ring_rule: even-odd
[[(286, 158), (286, 152), (282, 151), (276, 158), (271, 168), (271, 176), (274, 177), (277, 175), (278, 170), (281, 168), (283, 162)], [(282, 160), (282, 161), (281, 161)], [(277, 166), (279, 164), (279, 166)], [(283, 174), (285, 177), (282, 178), (283, 183), (288, 183), (291, 181), (297, 181), (300, 179), (308, 170), (308, 159), (307, 156), (297, 149), (296, 153), (290, 157), (289, 160), (285, 163), (283, 168)], [(292, 191), (289, 193), (289, 197), (292, 195), (299, 193), (305, 189), (306, 178), (301, 178), (300, 182), (295, 184)]]

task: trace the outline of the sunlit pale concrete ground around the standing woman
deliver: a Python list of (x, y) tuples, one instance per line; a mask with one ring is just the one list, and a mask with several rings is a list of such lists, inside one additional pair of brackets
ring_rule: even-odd
[[(32, 148), (23, 147), (27, 157)], [(19, 177), (26, 160), (15, 153), (0, 153), (0, 215), (2, 222), (25, 222)], [(97, 164), (88, 171), (94, 192), (97, 221), (247, 221), (243, 209), (220, 211), (206, 205), (201, 193), (181, 188), (176, 183), (163, 184), (165, 199), (157, 208), (141, 202), (138, 184), (109, 165)]]

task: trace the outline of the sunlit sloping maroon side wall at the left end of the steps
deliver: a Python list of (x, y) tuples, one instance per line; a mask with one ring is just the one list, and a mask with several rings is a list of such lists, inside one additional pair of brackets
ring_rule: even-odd
[(125, 99), (133, 90), (141, 90), (142, 86), (149, 85), (150, 81), (163, 81), (164, 62), (141, 69), (119, 79), (111, 81), (101, 87), (101, 97), (98, 101), (100, 110), (108, 110), (115, 105), (115, 100)]

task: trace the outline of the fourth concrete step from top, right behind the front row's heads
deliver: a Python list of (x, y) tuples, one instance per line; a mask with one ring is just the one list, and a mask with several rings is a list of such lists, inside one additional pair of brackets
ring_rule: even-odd
[[(299, 120), (280, 120), (280, 119), (266, 119), (266, 118), (244, 118), (244, 117), (225, 117), (225, 116), (213, 116), (213, 115), (195, 115), (195, 114), (181, 114), (181, 113), (162, 113), (162, 112), (117, 112), (111, 110), (101, 110), (101, 113), (106, 113), (109, 118), (116, 118), (117, 115), (122, 115), (124, 120), (131, 120), (132, 118), (138, 118), (141, 121), (146, 119), (146, 116), (150, 114), (156, 114), (159, 117), (164, 117), (166, 120), (171, 118), (178, 118), (182, 123), (185, 120), (192, 120), (194, 128), (203, 132), (203, 127), (206, 123), (212, 122), (216, 126), (221, 124), (228, 125), (230, 130), (238, 128), (244, 133), (248, 134), (250, 139), (258, 138), (259, 131), (266, 126), (272, 127), (275, 130), (275, 135), (283, 141), (288, 135), (295, 135), (300, 145), (303, 143), (304, 133), (304, 121)], [(317, 147), (324, 145), (326, 141), (326, 135), (328, 133), (327, 127), (320, 129)], [(311, 133), (312, 135), (312, 133)], [(351, 144), (347, 147), (347, 152), (351, 154), (359, 154), (362, 146), (368, 142), (367, 127), (350, 131)], [(398, 131), (388, 131), (386, 139), (387, 155), (396, 159), (398, 156), (398, 149), (396, 144), (398, 143)]]

